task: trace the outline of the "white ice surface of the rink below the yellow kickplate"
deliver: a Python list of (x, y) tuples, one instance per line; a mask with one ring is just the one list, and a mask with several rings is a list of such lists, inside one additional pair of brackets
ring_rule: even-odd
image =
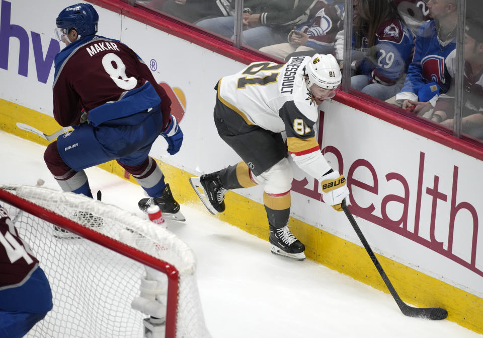
[[(60, 189), (43, 162), (44, 146), (4, 131), (0, 144), (0, 184), (35, 185), (42, 178), (44, 186)], [(140, 186), (99, 168), (86, 172), (103, 201), (145, 217), (137, 209), (144, 197)], [(176, 186), (173, 192), (176, 196)], [(482, 336), (447, 320), (406, 317), (389, 294), (313, 261), (275, 256), (268, 242), (212, 217), (201, 202), (181, 210), (187, 221), (173, 221), (169, 230), (196, 254), (199, 292), (213, 338)]]

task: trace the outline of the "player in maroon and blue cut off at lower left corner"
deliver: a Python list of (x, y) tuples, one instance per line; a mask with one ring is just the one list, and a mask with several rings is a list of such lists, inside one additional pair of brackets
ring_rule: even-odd
[(49, 281), (0, 206), (0, 337), (23, 337), (51, 309)]

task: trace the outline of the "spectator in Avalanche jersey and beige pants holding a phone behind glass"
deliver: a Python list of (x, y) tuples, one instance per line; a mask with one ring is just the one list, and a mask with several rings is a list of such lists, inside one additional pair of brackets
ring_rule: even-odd
[[(297, 27), (288, 34), (288, 42), (260, 48), (261, 52), (280, 59), (288, 59), (289, 54), (313, 55), (314, 53), (331, 54), (342, 11), (338, 6), (317, 1), (310, 10), (310, 22)], [(290, 55), (293, 56), (293, 55)]]

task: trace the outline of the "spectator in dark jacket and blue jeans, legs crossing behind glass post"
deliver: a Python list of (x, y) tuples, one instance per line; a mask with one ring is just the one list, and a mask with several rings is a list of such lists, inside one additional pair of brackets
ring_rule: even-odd
[[(293, 26), (308, 21), (314, 0), (247, 0), (243, 10), (244, 45), (260, 49), (286, 41)], [(196, 26), (233, 39), (233, 16), (201, 20)]]

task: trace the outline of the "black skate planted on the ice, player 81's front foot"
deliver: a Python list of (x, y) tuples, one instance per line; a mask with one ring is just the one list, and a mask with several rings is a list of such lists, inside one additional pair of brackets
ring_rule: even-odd
[(305, 246), (290, 232), (288, 225), (280, 229), (270, 226), (269, 241), (272, 253), (296, 260), (305, 259)]

